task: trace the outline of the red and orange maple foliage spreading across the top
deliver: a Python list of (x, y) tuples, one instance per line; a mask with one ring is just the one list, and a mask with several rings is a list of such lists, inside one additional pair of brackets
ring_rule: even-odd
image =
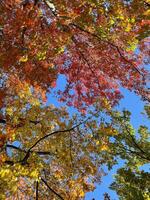
[[(148, 26), (148, 5), (2, 1), (0, 64), (5, 73), (15, 71), (45, 90), (55, 84), (57, 74), (65, 74), (62, 100), (77, 107), (100, 96), (116, 103), (120, 85), (142, 94), (146, 71), (140, 67), (142, 58), (132, 51), (142, 30), (145, 33), (143, 26)], [(75, 94), (70, 94), (72, 89)]]

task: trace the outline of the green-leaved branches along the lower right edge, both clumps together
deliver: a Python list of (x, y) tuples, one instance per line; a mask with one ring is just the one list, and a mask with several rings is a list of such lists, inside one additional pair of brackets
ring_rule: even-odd
[[(149, 116), (149, 106), (145, 106)], [(114, 124), (119, 125), (120, 134), (114, 137), (111, 153), (125, 160), (125, 165), (117, 171), (115, 181), (110, 188), (115, 190), (121, 200), (149, 200), (150, 174), (141, 170), (150, 162), (150, 132), (148, 127), (141, 125), (135, 134), (129, 124), (130, 113), (114, 114)]]

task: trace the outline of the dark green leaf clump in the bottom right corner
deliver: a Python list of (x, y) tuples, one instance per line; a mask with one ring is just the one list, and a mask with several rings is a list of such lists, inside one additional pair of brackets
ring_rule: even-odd
[(133, 171), (130, 168), (121, 168), (117, 171), (115, 182), (111, 184), (120, 200), (149, 200), (150, 174), (144, 171)]

